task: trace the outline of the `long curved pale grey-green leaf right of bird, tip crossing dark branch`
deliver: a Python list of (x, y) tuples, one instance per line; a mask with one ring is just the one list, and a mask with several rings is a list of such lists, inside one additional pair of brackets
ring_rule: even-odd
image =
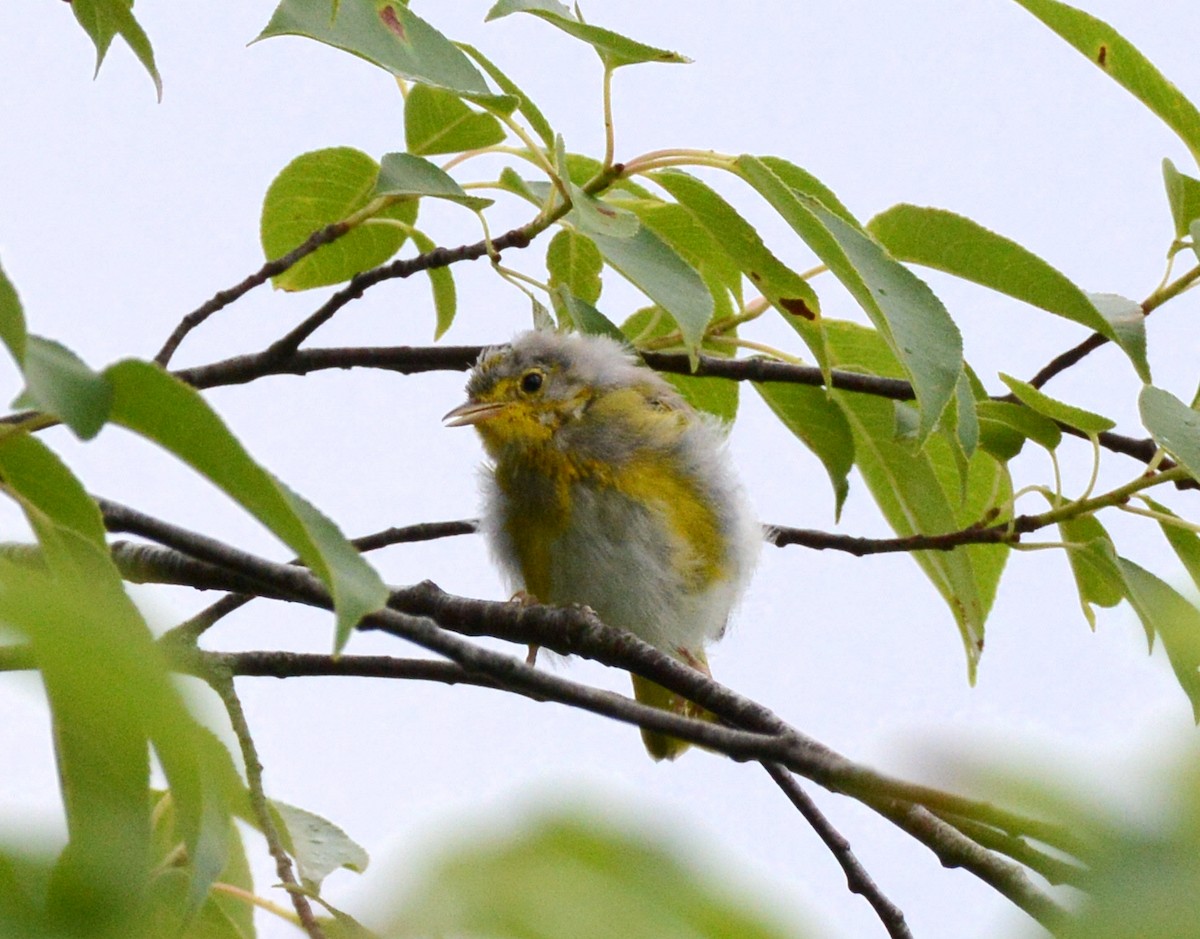
[[(946, 307), (857, 225), (790, 185), (766, 161), (739, 156), (736, 168), (846, 286), (887, 340), (912, 382), (920, 406), (920, 439), (926, 439), (962, 372), (962, 336)], [(790, 179), (804, 181), (796, 173)]]

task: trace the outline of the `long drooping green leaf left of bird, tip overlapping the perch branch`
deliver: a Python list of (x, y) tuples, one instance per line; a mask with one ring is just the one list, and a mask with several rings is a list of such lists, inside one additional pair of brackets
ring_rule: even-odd
[(329, 519), (258, 466), (197, 391), (143, 361), (118, 363), (104, 375), (114, 421), (224, 490), (324, 581), (337, 616), (336, 651), (364, 616), (383, 608), (388, 590), (374, 569)]

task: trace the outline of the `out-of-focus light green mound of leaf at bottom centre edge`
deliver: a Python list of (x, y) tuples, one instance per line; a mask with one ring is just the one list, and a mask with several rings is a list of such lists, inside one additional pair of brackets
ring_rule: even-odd
[(550, 817), (443, 860), (389, 935), (488, 939), (769, 939), (761, 904), (731, 897), (643, 835)]

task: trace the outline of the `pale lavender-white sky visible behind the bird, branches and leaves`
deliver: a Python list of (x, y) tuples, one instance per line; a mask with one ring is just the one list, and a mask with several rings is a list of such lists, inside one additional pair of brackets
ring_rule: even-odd
[[(1194, 4), (1085, 6), (1200, 96)], [(590, 50), (533, 18), (485, 25), (487, 7), (415, 4), (450, 37), (508, 68), (570, 149), (598, 154), (600, 68)], [(0, 259), (32, 331), (95, 366), (150, 357), (184, 313), (259, 265), (262, 196), (288, 161), (332, 145), (376, 157), (403, 149), (400, 96), (383, 71), (299, 38), (246, 47), (271, 10), (270, 2), (142, 0), (138, 16), (166, 86), (160, 104), (119, 43), (90, 80), (91, 47), (65, 4), (0, 6)], [(863, 220), (898, 202), (937, 205), (1020, 241), (1090, 291), (1141, 299), (1162, 276), (1172, 229), (1159, 163), (1169, 156), (1195, 172), (1187, 151), (1014, 2), (593, 0), (584, 13), (695, 60), (618, 73), (618, 159), (664, 146), (776, 154), (820, 177)], [(460, 179), (484, 169), (468, 165)], [(722, 189), (785, 261), (809, 267), (804, 246), (749, 190)], [(518, 223), (527, 216), (518, 209), (503, 217)], [(422, 219), (443, 244), (479, 237), (454, 207), (422, 210)], [(493, 231), (504, 227), (497, 221)], [(542, 253), (540, 243), (505, 259), (538, 273)], [(527, 303), (486, 265), (457, 265), (455, 275), (460, 318), (445, 341), (503, 341), (528, 325)], [(997, 371), (1027, 377), (1086, 335), (986, 291), (929, 280), (964, 330), (968, 361), (994, 390)], [(827, 315), (862, 318), (832, 281), (822, 277), (816, 287)], [(257, 291), (193, 334), (175, 364), (257, 351), (326, 294)], [(602, 309), (612, 318), (638, 305), (635, 291), (606, 282)], [(1156, 382), (1180, 396), (1194, 390), (1194, 309), (1195, 299), (1184, 297), (1150, 323)], [(371, 291), (316, 345), (422, 345), (432, 329), (427, 281), (418, 276)], [(770, 322), (754, 335), (796, 348)], [(479, 444), (469, 431), (439, 423), (460, 402), (462, 383), (457, 373), (324, 372), (217, 389), (209, 400), (256, 457), (353, 536), (475, 513)], [(1132, 367), (1109, 347), (1048, 390), (1144, 436), (1136, 387)], [(5, 364), (0, 395), (18, 390)], [(46, 439), (94, 492), (272, 558), (287, 556), (210, 485), (120, 430), (83, 447), (61, 430)], [(833, 527), (824, 472), (749, 389), (733, 448), (764, 521)], [(1088, 454), (1075, 443), (1064, 449), (1067, 490), (1078, 492)], [(1102, 485), (1138, 468), (1116, 455), (1104, 461)], [(1049, 478), (1044, 454), (1022, 454), (1014, 466), (1018, 485)], [(1174, 504), (1200, 515), (1194, 494)], [(1022, 507), (1038, 508), (1036, 501)], [(1114, 519), (1110, 527), (1118, 550), (1183, 582), (1152, 524)], [(857, 478), (838, 530), (886, 533)], [(6, 508), (0, 537), (19, 536)], [(392, 584), (431, 578), (455, 593), (504, 596), (478, 538), (396, 546), (372, 558)], [(212, 599), (167, 590), (137, 596), (161, 626)], [(330, 635), (325, 615), (260, 603), (222, 623), (208, 644), (324, 651)], [(368, 636), (350, 651), (413, 650)], [(767, 548), (712, 660), (720, 680), (805, 732), (924, 782), (952, 785), (962, 767), (982, 760), (1045, 772), (1081, 796), (1142, 812), (1157, 799), (1158, 771), (1194, 748), (1190, 707), (1165, 657), (1146, 656), (1128, 606), (1102, 611), (1098, 630), (1088, 632), (1061, 552), (1009, 561), (974, 688), (949, 612), (905, 556)], [(625, 676), (586, 663), (558, 668), (628, 687)], [(785, 920), (808, 916), (814, 934), (883, 934), (816, 836), (754, 766), (703, 753), (653, 765), (631, 728), (493, 692), (312, 678), (241, 680), (239, 688), (269, 794), (332, 819), (374, 859), (365, 878), (340, 872), (326, 881), (330, 899), (350, 911), (372, 891), (391, 892), (448, 833), (503, 831), (530, 809), (584, 800), (683, 845)], [(58, 824), (38, 694), (29, 676), (0, 676), (4, 835)], [(202, 700), (215, 714), (214, 702)], [(874, 813), (811, 790), (916, 935), (1038, 934), (991, 889), (942, 869)], [(274, 873), (257, 838), (251, 853), (259, 890), (268, 892)], [(262, 934), (299, 933), (264, 922)]]

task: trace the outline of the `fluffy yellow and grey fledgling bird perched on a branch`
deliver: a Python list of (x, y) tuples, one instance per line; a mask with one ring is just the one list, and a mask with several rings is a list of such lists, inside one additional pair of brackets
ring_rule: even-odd
[[(587, 606), (710, 675), (706, 646), (762, 543), (719, 419), (614, 339), (535, 329), (480, 353), (444, 421), (482, 439), (480, 530), (515, 597)], [(714, 719), (631, 677), (638, 701)], [(690, 746), (644, 728), (642, 740), (655, 761)]]

